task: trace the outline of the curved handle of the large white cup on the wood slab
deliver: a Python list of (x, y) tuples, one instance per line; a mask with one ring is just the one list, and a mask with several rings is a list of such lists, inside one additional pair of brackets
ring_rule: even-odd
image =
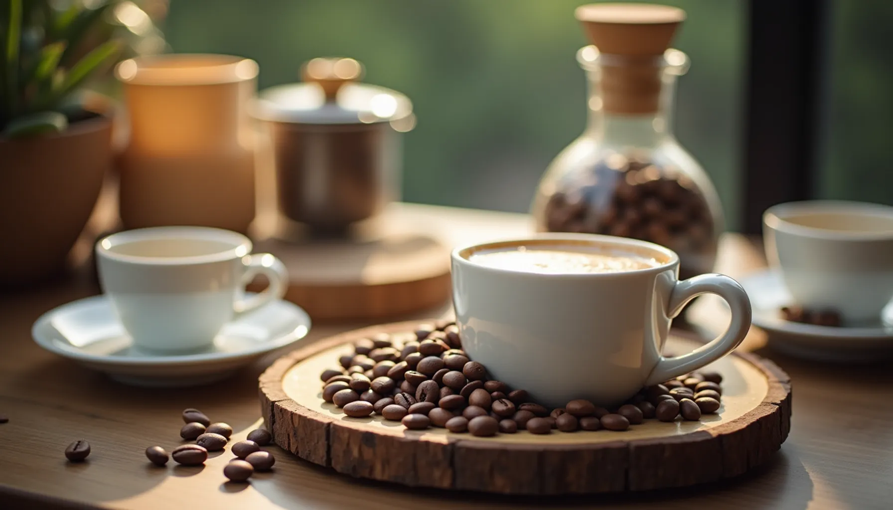
[(697, 347), (689, 354), (671, 358), (662, 355), (648, 376), (646, 386), (671, 380), (684, 373), (693, 372), (705, 364), (713, 363), (729, 354), (744, 340), (747, 330), (750, 329), (750, 299), (747, 298), (747, 293), (739, 282), (724, 274), (702, 274), (689, 280), (677, 281), (667, 303), (667, 316), (672, 318), (679, 315), (689, 301), (702, 294), (716, 294), (729, 304), (731, 309), (729, 329), (719, 338)]

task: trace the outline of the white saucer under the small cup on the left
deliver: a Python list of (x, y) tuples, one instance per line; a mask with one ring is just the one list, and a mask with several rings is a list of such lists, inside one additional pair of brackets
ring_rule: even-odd
[(223, 326), (213, 347), (187, 355), (154, 355), (132, 340), (104, 296), (87, 297), (43, 314), (31, 328), (40, 347), (114, 380), (145, 387), (182, 387), (221, 380), (257, 357), (305, 337), (310, 317), (273, 301)]

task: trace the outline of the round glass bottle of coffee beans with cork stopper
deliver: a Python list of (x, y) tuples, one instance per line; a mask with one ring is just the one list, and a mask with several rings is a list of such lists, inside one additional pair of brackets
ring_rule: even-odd
[(538, 230), (645, 239), (680, 255), (680, 278), (711, 272), (722, 208), (671, 128), (673, 88), (689, 59), (669, 46), (685, 12), (589, 4), (575, 15), (593, 43), (577, 53), (588, 122), (539, 183)]

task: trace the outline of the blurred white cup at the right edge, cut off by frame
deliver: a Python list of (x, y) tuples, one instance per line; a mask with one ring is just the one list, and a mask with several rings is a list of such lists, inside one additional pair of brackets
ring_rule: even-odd
[(763, 224), (766, 258), (797, 305), (879, 319), (893, 297), (893, 207), (791, 202), (767, 209)]

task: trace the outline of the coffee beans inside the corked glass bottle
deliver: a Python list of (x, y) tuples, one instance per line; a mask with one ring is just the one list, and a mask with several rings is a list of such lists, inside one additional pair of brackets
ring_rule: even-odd
[(557, 184), (540, 219), (552, 232), (637, 238), (680, 255), (680, 278), (710, 272), (716, 254), (714, 219), (687, 176), (645, 155), (611, 154)]

